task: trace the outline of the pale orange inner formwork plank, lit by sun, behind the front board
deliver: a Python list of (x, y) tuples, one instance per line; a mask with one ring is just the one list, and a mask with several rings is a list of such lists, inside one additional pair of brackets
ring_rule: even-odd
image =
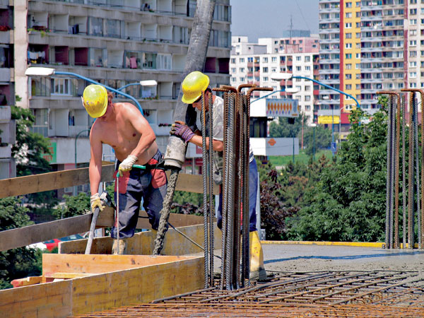
[(193, 257), (149, 255), (42, 254), (42, 274), (107, 273), (142, 266), (165, 264)]

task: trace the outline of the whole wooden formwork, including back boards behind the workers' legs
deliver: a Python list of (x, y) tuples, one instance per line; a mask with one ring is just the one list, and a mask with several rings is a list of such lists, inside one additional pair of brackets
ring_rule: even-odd
[[(178, 230), (203, 246), (203, 225)], [(151, 231), (136, 233), (128, 239), (129, 255), (110, 255), (110, 237), (93, 240), (93, 254), (43, 254), (42, 276), (15, 280), (18, 288), (0, 290), (1, 317), (67, 317), (204, 287), (204, 258), (181, 256), (201, 252), (199, 247), (170, 229), (163, 248), (167, 255), (152, 257), (146, 254), (153, 240)], [(85, 248), (86, 240), (59, 245), (61, 253)], [(218, 230), (215, 248), (220, 248)]]

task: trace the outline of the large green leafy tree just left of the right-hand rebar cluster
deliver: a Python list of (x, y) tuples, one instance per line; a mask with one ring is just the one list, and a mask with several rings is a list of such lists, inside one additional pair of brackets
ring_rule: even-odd
[[(382, 99), (380, 103), (385, 105)], [(383, 108), (384, 110), (384, 108)], [(292, 240), (377, 241), (384, 236), (387, 115), (351, 114), (351, 134), (334, 165), (324, 167), (308, 204), (289, 220)]]

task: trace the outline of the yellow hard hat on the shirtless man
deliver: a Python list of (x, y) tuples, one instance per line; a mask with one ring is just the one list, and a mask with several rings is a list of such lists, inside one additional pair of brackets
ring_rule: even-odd
[(101, 85), (91, 84), (84, 89), (83, 105), (93, 118), (102, 117), (107, 110), (107, 90)]

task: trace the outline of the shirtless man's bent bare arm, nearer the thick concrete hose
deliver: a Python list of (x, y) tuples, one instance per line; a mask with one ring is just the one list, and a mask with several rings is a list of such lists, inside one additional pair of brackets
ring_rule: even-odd
[(141, 134), (139, 143), (136, 148), (131, 151), (131, 155), (135, 155), (139, 158), (139, 156), (155, 142), (156, 136), (147, 119), (143, 117), (141, 112), (134, 105), (126, 104), (125, 107), (124, 114), (126, 119), (128, 119), (134, 129)]

